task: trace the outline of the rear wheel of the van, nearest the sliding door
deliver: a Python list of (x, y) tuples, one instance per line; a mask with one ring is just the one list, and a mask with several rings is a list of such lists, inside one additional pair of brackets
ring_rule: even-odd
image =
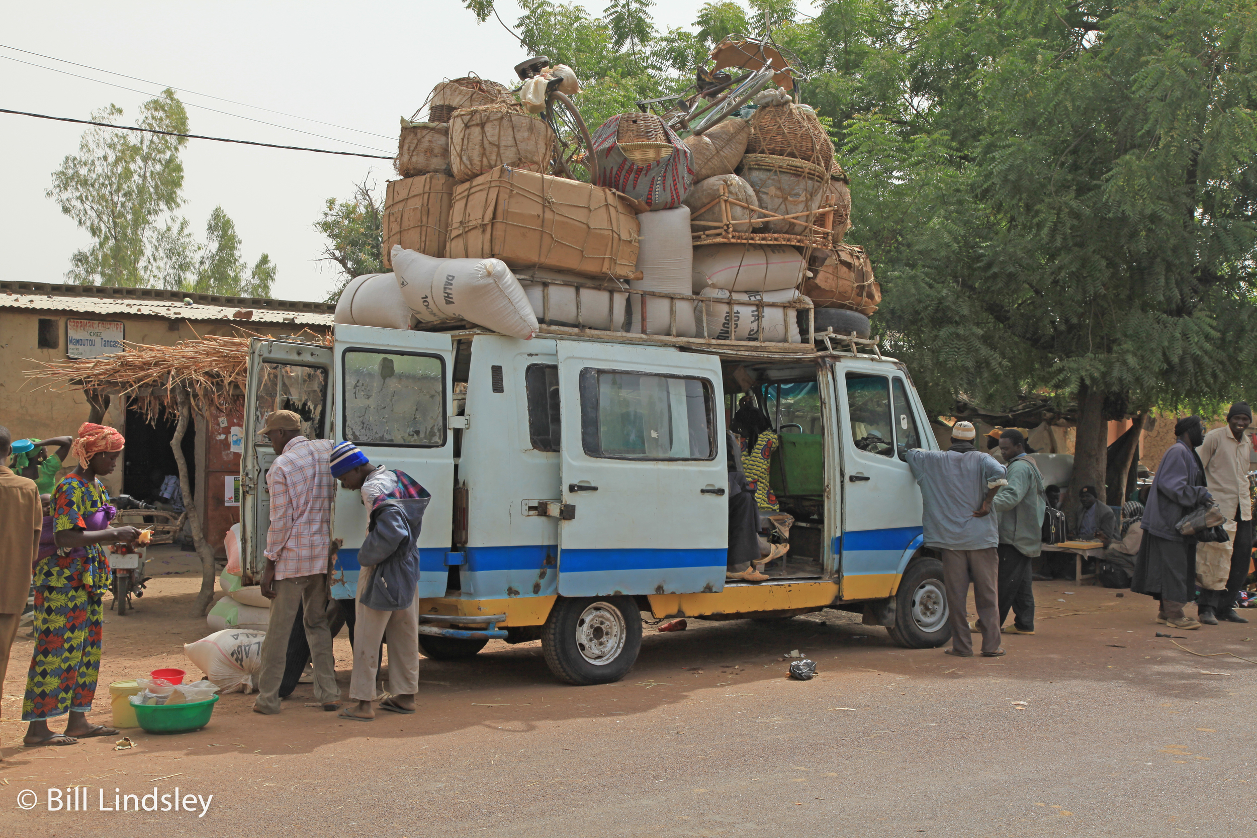
[(618, 681), (640, 651), (641, 611), (632, 597), (559, 597), (542, 627), (546, 665), (577, 686)]

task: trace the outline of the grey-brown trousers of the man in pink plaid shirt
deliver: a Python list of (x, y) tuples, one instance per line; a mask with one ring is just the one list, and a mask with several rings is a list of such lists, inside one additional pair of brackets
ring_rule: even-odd
[(327, 574), (316, 573), (275, 582), (275, 598), (270, 601), (266, 639), (261, 642), (258, 699), (253, 705), (259, 712), (279, 712), (279, 685), (284, 680), (288, 636), (293, 631), (298, 607), (304, 612), (302, 618), (305, 626), (305, 641), (314, 660), (314, 700), (319, 704), (341, 700), (341, 688), (336, 686), (332, 632), (327, 628)]

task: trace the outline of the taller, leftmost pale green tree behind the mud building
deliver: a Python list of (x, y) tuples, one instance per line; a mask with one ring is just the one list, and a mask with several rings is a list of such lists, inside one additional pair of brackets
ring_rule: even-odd
[[(92, 114), (116, 123), (122, 108), (111, 104)], [(170, 88), (140, 106), (140, 127), (187, 133), (187, 112)], [(170, 214), (184, 200), (185, 137), (89, 128), (79, 153), (67, 156), (53, 172), (48, 197), (85, 229), (93, 245), (70, 256), (65, 278), (79, 284), (137, 286), (150, 276), (178, 273), (186, 254), (178, 250), (181, 225)], [(165, 220), (165, 222), (163, 222)]]

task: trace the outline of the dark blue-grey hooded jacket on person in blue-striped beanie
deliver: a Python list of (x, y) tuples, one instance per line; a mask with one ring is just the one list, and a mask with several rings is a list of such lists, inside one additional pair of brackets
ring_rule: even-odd
[(431, 496), (388, 499), (371, 510), (358, 550), (358, 602), (376, 611), (401, 611), (419, 585), (419, 533)]

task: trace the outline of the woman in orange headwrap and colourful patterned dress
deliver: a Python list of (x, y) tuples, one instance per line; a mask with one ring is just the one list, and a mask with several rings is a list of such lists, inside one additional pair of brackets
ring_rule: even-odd
[[(114, 508), (97, 477), (113, 471), (122, 435), (84, 422), (70, 451), (79, 465), (53, 491), (57, 553), (35, 565), (35, 651), (26, 676), (21, 720), (30, 722), (23, 743), (73, 745), (117, 730), (87, 720), (101, 673), (101, 607), (109, 588), (102, 544), (133, 544), (134, 526), (109, 526)], [(69, 714), (64, 734), (48, 720)]]

